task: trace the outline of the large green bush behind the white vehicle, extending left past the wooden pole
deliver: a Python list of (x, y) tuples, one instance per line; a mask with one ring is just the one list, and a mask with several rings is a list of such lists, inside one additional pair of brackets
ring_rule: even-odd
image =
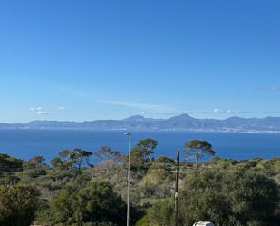
[[(215, 226), (273, 226), (279, 201), (274, 180), (253, 172), (195, 172), (179, 191), (179, 225), (213, 221)], [(159, 201), (137, 226), (169, 226), (174, 201)]]

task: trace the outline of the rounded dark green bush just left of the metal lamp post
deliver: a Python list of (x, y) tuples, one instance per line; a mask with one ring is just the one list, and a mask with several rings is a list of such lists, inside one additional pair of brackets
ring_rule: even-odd
[(88, 182), (78, 191), (65, 188), (53, 197), (52, 203), (57, 218), (68, 224), (107, 221), (125, 224), (126, 204), (108, 182)]

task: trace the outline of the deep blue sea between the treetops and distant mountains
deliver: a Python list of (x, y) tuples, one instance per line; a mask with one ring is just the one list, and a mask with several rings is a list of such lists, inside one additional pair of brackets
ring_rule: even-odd
[[(216, 155), (222, 158), (280, 157), (280, 134), (134, 132), (131, 136), (132, 146), (147, 137), (159, 142), (154, 157), (165, 155), (174, 158), (177, 148), (182, 150), (184, 143), (191, 139), (207, 140), (213, 145)], [(49, 162), (64, 149), (80, 147), (97, 151), (105, 145), (122, 153), (128, 151), (127, 137), (121, 131), (0, 130), (0, 152), (24, 160), (42, 155)]]

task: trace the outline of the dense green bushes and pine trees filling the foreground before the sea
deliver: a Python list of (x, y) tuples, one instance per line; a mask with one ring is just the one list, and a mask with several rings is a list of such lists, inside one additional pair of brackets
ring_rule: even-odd
[[(174, 225), (175, 162), (152, 158), (147, 138), (130, 152), (130, 224)], [(235, 161), (215, 155), (210, 143), (189, 141), (179, 163), (179, 226), (276, 226), (280, 158)], [(203, 158), (203, 162), (200, 158)], [(92, 163), (93, 162), (97, 163)], [(0, 154), (0, 225), (123, 226), (126, 224), (127, 156), (101, 147), (64, 150), (50, 163)]]

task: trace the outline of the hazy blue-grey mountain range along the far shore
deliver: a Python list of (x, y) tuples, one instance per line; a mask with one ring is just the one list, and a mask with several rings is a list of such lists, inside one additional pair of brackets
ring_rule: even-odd
[(140, 115), (123, 120), (92, 122), (32, 121), (29, 123), (0, 123), (0, 129), (35, 130), (130, 130), (130, 131), (208, 131), (237, 133), (280, 133), (280, 117), (240, 118), (225, 120), (196, 119), (188, 114), (169, 119), (152, 119)]

